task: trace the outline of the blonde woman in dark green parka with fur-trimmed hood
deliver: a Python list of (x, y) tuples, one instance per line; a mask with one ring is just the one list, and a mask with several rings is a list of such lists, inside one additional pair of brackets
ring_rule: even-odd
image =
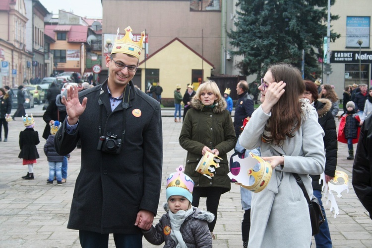
[[(226, 101), (215, 82), (202, 83), (191, 106), (186, 113), (179, 141), (187, 150), (185, 173), (195, 182), (192, 206), (199, 206), (200, 197), (207, 198), (207, 211), (216, 216), (213, 222), (208, 223), (209, 230), (213, 232), (220, 197), (231, 188), (227, 175), (227, 153), (234, 149), (237, 138), (230, 113), (225, 109)], [(222, 159), (211, 179), (195, 171), (206, 151)], [(212, 236), (214, 238), (213, 233)]]

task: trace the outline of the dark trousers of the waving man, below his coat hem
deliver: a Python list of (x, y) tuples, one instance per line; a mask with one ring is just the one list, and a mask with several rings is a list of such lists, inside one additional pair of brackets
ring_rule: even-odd
[[(79, 231), (82, 248), (108, 248), (109, 234)], [(142, 248), (142, 234), (114, 234), (117, 248)]]

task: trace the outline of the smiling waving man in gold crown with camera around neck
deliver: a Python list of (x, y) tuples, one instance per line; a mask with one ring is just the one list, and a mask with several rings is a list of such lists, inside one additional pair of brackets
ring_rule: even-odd
[(105, 83), (80, 93), (70, 87), (62, 97), (67, 117), (55, 146), (66, 155), (81, 141), (81, 169), (67, 228), (79, 230), (83, 248), (108, 247), (109, 234), (114, 234), (116, 247), (140, 248), (141, 229), (149, 229), (157, 213), (163, 154), (160, 103), (131, 81), (145, 37), (142, 32), (134, 42), (131, 31), (127, 27), (106, 56)]

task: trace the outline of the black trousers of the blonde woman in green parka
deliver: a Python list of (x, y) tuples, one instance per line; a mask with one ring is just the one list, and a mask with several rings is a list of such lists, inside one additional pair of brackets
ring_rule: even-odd
[(207, 211), (214, 214), (214, 220), (210, 223), (208, 222), (208, 228), (211, 232), (213, 232), (214, 227), (216, 226), (218, 204), (220, 203), (221, 195), (225, 191), (226, 188), (221, 187), (200, 187), (194, 188), (194, 191), (192, 192), (191, 205), (194, 207), (199, 206), (200, 197), (207, 198)]

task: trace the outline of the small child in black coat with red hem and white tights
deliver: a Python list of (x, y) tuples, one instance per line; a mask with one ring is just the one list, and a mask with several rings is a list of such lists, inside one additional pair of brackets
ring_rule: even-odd
[(22, 178), (29, 180), (34, 179), (34, 164), (36, 159), (40, 158), (36, 148), (40, 140), (38, 132), (34, 130), (35, 121), (32, 114), (31, 117), (26, 114), (24, 117), (22, 116), (22, 119), (26, 129), (19, 133), (19, 149), (21, 149), (21, 152), (18, 158), (23, 159), (22, 165), (28, 165), (27, 175), (22, 176)]

